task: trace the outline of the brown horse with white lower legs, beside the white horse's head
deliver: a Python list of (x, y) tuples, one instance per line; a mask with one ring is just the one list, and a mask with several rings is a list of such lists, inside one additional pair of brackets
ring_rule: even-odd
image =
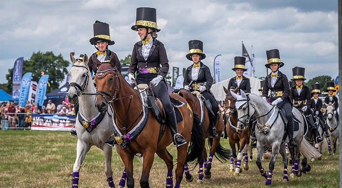
[[(235, 164), (236, 169), (235, 169), (234, 175), (239, 175), (239, 173), (242, 172), (242, 168), (240, 168), (240, 165), (241, 165), (241, 160), (243, 156), (244, 156), (244, 161), (245, 161), (243, 168), (245, 170), (249, 169), (247, 150), (251, 142), (252, 130), (250, 130), (249, 126), (246, 126), (244, 128), (237, 127), (236, 125), (237, 124), (237, 111), (235, 110), (236, 99), (232, 96), (231, 91), (227, 90), (225, 87), (223, 87), (223, 89), (224, 89), (224, 92), (226, 93), (225, 102), (226, 102), (227, 108), (232, 110), (230, 112), (229, 120), (226, 124), (226, 131), (227, 131), (227, 136), (229, 138), (229, 145), (232, 148), (232, 156), (231, 156), (231, 163), (230, 163), (229, 171), (230, 172), (234, 171), (234, 164)], [(235, 88), (233, 92), (236, 94), (237, 91), (238, 91), (238, 88)], [(233, 130), (233, 127), (235, 128), (235, 130)], [(236, 156), (235, 144), (237, 144), (237, 148), (238, 148), (237, 156)]]

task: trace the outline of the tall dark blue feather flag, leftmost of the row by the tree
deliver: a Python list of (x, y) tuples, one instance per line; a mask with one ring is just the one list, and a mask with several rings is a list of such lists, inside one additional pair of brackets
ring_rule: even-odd
[(14, 62), (13, 75), (12, 75), (12, 99), (19, 99), (20, 96), (20, 84), (22, 75), (22, 63), (24, 61), (23, 57), (20, 57)]

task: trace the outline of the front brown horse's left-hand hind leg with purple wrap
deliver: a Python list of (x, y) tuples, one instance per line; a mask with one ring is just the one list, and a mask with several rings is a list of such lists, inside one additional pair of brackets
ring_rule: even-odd
[(173, 188), (173, 175), (172, 175), (173, 157), (166, 148), (157, 151), (156, 154), (165, 162), (168, 168), (168, 173), (166, 175), (166, 187), (165, 188)]

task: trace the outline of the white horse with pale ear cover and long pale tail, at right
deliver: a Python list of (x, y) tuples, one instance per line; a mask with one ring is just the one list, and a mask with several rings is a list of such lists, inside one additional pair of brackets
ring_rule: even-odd
[[(267, 186), (272, 183), (272, 175), (274, 165), (278, 156), (278, 153), (282, 156), (282, 161), (284, 164), (284, 176), (283, 181), (287, 182), (287, 157), (285, 152), (285, 143), (288, 142), (288, 138), (286, 137), (283, 140), (283, 135), (285, 133), (285, 125), (283, 120), (279, 114), (278, 108), (276, 106), (272, 106), (268, 104), (264, 99), (256, 94), (246, 95), (243, 91), (241, 91), (241, 95), (237, 95), (232, 93), (232, 95), (237, 99), (235, 106), (237, 109), (238, 117), (237, 125), (244, 126), (244, 124), (248, 123), (251, 120), (251, 116), (255, 115), (257, 120), (256, 126), (256, 150), (257, 150), (257, 158), (256, 165), (259, 168), (261, 175), (266, 179), (265, 184)], [(299, 170), (299, 152), (301, 152), (306, 158), (311, 158), (311, 156), (320, 157), (321, 154), (316, 151), (316, 149), (305, 139), (303, 139), (304, 134), (304, 126), (303, 120), (300, 112), (293, 108), (293, 114), (299, 119), (299, 130), (294, 132), (294, 139), (298, 143), (298, 147), (289, 148), (291, 155), (293, 156), (293, 173), (292, 176), (301, 176), (301, 172)], [(272, 156), (269, 164), (269, 172), (268, 175), (266, 171), (261, 165), (261, 158), (266, 148), (272, 147)]]

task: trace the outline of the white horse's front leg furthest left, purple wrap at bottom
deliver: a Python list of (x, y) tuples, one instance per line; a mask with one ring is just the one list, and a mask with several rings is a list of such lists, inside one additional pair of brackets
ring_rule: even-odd
[(80, 139), (77, 140), (77, 146), (76, 146), (76, 161), (73, 167), (73, 173), (72, 173), (72, 187), (71, 188), (78, 188), (78, 181), (80, 177), (80, 169), (81, 165), (83, 163), (83, 160), (85, 160), (85, 154), (89, 151), (90, 145), (85, 144), (84, 142), (80, 141)]

